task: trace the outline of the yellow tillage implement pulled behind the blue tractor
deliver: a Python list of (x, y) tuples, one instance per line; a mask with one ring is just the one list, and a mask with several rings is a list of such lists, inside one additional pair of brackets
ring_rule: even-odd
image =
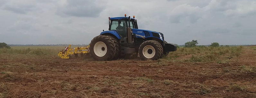
[[(70, 54), (74, 54), (74, 55), (78, 55), (78, 54), (86, 54), (89, 53), (89, 47), (85, 46), (85, 47), (75, 47), (75, 48), (70, 48), (71, 45), (69, 45), (69, 47), (65, 47), (65, 51), (60, 51), (58, 53), (58, 56), (61, 57), (61, 59), (69, 59)], [(74, 52), (73, 52), (73, 51)]]

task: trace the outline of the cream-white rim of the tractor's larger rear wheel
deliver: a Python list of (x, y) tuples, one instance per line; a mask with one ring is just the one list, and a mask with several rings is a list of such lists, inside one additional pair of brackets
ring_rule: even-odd
[(93, 51), (98, 57), (103, 57), (107, 53), (107, 45), (101, 41), (97, 42), (93, 47)]

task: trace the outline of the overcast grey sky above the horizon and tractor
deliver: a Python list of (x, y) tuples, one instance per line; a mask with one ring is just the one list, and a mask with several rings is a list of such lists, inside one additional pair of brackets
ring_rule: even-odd
[(162, 32), (168, 43), (256, 44), (255, 0), (128, 1), (0, 0), (0, 42), (89, 44), (108, 30), (108, 17), (126, 14), (139, 29)]

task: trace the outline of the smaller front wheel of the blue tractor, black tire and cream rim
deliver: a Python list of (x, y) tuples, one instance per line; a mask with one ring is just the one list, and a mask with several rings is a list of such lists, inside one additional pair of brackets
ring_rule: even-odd
[(157, 60), (162, 54), (163, 47), (156, 40), (147, 40), (139, 47), (139, 55), (142, 60)]

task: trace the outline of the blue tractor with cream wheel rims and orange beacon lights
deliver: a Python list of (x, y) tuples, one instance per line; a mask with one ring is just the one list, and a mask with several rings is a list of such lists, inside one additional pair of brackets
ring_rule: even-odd
[(116, 60), (124, 55), (138, 53), (142, 60), (157, 60), (176, 51), (177, 45), (164, 40), (163, 33), (138, 29), (137, 20), (109, 17), (109, 29), (91, 40), (89, 50), (97, 61)]

